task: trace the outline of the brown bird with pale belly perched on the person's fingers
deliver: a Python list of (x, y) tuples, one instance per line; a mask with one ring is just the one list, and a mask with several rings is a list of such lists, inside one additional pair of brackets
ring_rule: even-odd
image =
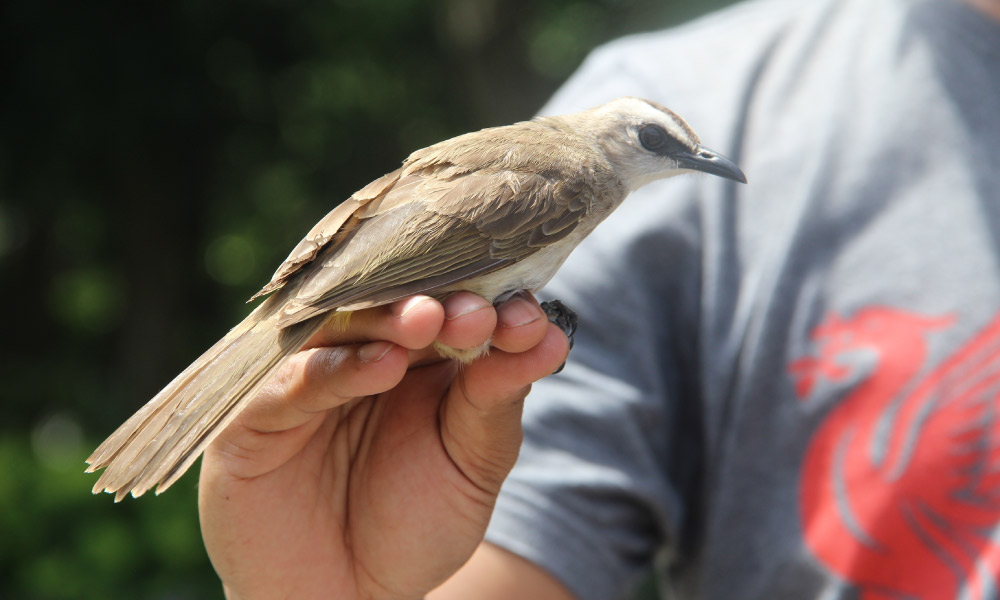
[[(632, 191), (696, 171), (746, 182), (675, 112), (635, 97), (413, 152), (323, 217), (260, 305), (94, 451), (94, 493), (165, 491), (328, 319), (415, 294), (533, 293)], [(488, 347), (435, 346), (461, 363)]]

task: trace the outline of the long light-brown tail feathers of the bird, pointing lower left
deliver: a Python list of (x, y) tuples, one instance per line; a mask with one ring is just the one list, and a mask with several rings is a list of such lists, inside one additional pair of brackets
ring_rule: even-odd
[(163, 492), (187, 471), (270, 375), (323, 324), (322, 316), (278, 329), (279, 293), (268, 298), (122, 424), (87, 459), (105, 469), (94, 493), (153, 486)]

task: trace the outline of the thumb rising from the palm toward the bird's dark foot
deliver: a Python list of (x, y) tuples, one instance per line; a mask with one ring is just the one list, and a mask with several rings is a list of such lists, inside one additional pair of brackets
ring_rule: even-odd
[(521, 447), (521, 409), (531, 384), (555, 371), (569, 352), (550, 325), (526, 352), (492, 350), (462, 369), (441, 407), (445, 451), (490, 504)]

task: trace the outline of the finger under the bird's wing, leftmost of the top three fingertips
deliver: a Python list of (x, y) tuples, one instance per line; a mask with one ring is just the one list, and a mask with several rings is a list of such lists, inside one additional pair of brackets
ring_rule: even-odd
[(439, 302), (429, 296), (411, 296), (365, 310), (333, 313), (304, 348), (375, 340), (410, 349), (425, 348), (440, 332), (444, 318), (444, 307)]

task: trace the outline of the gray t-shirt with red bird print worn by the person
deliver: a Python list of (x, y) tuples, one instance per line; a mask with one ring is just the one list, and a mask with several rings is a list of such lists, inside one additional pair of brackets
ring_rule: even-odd
[(545, 109), (685, 117), (749, 184), (650, 185), (547, 288), (580, 314), (487, 539), (585, 600), (995, 598), (1000, 24), (763, 0), (597, 50)]

